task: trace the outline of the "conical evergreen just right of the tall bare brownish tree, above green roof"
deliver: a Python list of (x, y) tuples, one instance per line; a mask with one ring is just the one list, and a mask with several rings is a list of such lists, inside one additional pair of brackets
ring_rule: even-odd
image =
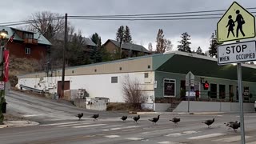
[(191, 48), (190, 48), (190, 35), (187, 33), (183, 33), (181, 36), (182, 40), (178, 41), (180, 45), (178, 45), (178, 50), (179, 51), (185, 51), (191, 53)]

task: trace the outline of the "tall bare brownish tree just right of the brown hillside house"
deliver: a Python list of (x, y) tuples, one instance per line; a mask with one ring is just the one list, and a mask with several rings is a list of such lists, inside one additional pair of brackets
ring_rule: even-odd
[(156, 53), (164, 53), (172, 49), (173, 45), (171, 44), (170, 40), (164, 38), (163, 30), (158, 30), (157, 35), (157, 46), (156, 46)]

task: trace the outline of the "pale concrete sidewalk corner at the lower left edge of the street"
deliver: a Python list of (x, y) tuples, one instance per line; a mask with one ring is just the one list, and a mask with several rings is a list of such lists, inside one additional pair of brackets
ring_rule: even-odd
[(37, 126), (39, 125), (38, 122), (31, 122), (31, 121), (5, 121), (3, 125), (0, 125), (1, 128), (5, 127), (22, 127), (22, 126)]

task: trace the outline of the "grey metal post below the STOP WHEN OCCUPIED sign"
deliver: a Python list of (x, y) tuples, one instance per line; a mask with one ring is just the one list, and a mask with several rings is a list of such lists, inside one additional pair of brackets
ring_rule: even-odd
[(241, 143), (246, 143), (244, 118), (243, 118), (243, 99), (242, 99), (242, 66), (238, 63), (238, 97), (240, 104), (240, 128), (241, 128)]

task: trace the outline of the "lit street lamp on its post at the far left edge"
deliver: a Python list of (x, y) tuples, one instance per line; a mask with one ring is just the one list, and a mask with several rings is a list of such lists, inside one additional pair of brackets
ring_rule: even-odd
[[(3, 82), (3, 70), (4, 70), (4, 66), (3, 66), (3, 50), (5, 49), (5, 44), (4, 44), (4, 39), (6, 38), (6, 36), (8, 35), (8, 31), (6, 31), (5, 29), (0, 30), (0, 40), (1, 40), (1, 50), (0, 50), (0, 82)], [(6, 99), (5, 99), (5, 85), (3, 85), (3, 88), (1, 86), (2, 89), (0, 89), (0, 125), (3, 124), (3, 119), (4, 119), (4, 115), (2, 114), (2, 109), (5, 108), (4, 106), (6, 106)], [(4, 105), (5, 104), (5, 105)]]

